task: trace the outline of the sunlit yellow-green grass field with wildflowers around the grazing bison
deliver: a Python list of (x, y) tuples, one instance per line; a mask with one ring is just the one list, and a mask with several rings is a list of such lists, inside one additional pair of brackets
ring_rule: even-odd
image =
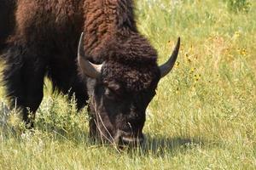
[(247, 12), (226, 2), (137, 1), (137, 26), (159, 64), (182, 38), (148, 107), (142, 148), (92, 144), (85, 109), (50, 94), (46, 80), (34, 133), (22, 133), (15, 111), (3, 120), (0, 106), (0, 169), (256, 169), (256, 1)]

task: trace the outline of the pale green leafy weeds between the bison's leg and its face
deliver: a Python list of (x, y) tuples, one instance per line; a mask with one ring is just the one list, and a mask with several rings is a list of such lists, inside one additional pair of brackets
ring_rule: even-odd
[(68, 97), (63, 95), (44, 99), (38, 109), (36, 127), (68, 139), (87, 138), (85, 133), (88, 128), (86, 107), (78, 113), (74, 97), (68, 103), (67, 100)]

